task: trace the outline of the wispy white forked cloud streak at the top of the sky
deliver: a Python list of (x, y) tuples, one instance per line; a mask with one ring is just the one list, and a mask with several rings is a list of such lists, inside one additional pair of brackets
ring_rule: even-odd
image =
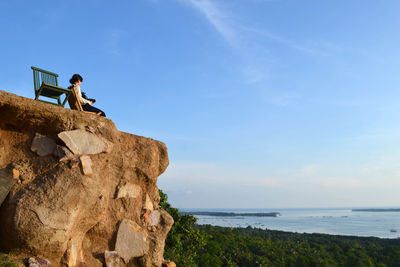
[[(242, 61), (242, 72), (248, 83), (259, 83), (270, 76), (274, 60), (265, 41), (273, 41), (287, 48), (313, 56), (329, 56), (338, 49), (326, 41), (301, 42), (291, 41), (266, 29), (260, 30), (240, 23), (232, 8), (214, 0), (178, 0), (188, 4), (204, 15), (206, 20), (222, 36), (229, 46), (236, 51)], [(269, 2), (258, 0), (256, 2)], [(233, 5), (233, 4), (232, 4)], [(232, 5), (230, 7), (232, 7)]]

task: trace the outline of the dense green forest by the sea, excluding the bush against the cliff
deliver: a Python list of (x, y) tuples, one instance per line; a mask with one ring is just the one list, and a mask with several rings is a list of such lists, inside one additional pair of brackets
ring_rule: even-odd
[(400, 240), (196, 226), (199, 266), (400, 266)]

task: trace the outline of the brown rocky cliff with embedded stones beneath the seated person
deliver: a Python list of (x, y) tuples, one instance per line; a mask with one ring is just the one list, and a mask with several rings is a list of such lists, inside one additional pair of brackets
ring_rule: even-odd
[(163, 143), (4, 91), (0, 118), (0, 249), (52, 266), (161, 266)]

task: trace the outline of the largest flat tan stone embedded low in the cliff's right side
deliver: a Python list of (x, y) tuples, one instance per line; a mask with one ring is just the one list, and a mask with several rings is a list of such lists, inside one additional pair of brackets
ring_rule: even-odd
[(145, 255), (149, 251), (147, 232), (131, 220), (122, 220), (118, 228), (115, 251), (124, 259), (125, 263), (132, 258)]

